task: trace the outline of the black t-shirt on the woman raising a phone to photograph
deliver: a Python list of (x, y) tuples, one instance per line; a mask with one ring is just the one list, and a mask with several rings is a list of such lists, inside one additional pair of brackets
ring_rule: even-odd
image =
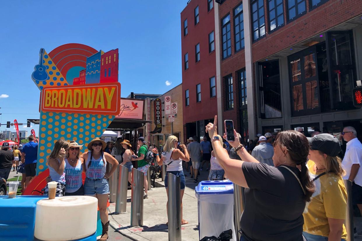
[[(298, 168), (289, 167), (300, 178)], [(244, 162), (245, 209), (240, 219), (247, 241), (303, 241), (303, 190), (284, 167)]]

